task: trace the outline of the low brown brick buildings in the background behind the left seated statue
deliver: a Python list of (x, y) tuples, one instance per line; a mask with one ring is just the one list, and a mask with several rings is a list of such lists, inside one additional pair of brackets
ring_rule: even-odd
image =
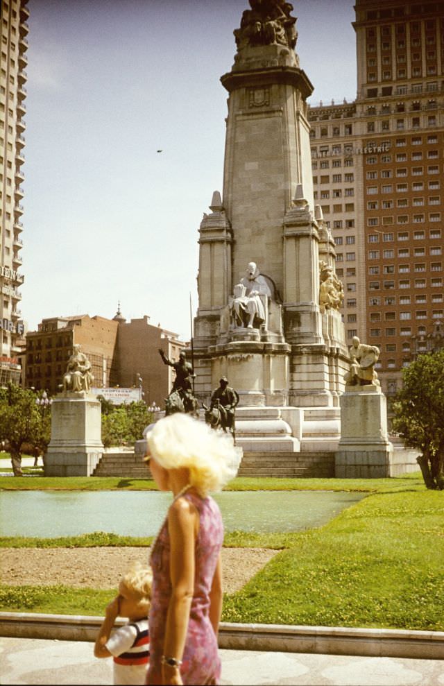
[(162, 407), (173, 370), (162, 362), (159, 348), (176, 361), (185, 347), (177, 334), (151, 325), (147, 316), (128, 323), (120, 312), (113, 319), (87, 314), (43, 319), (37, 331), (26, 334), (26, 387), (58, 393), (77, 344), (91, 363), (95, 388), (142, 386), (145, 402)]

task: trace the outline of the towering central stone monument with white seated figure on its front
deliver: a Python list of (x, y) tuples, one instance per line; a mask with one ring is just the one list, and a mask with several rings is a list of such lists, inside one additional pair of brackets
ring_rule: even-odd
[(307, 97), (296, 18), (257, 2), (234, 31), (223, 200), (199, 229), (196, 396), (227, 377), (245, 451), (336, 450), (348, 351), (334, 241), (314, 206)]

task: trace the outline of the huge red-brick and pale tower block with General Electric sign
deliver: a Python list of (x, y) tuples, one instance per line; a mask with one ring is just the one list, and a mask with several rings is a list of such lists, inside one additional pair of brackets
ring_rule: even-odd
[(444, 3), (355, 10), (357, 99), (309, 114), (315, 202), (336, 243), (346, 336), (379, 347), (391, 395), (444, 318)]

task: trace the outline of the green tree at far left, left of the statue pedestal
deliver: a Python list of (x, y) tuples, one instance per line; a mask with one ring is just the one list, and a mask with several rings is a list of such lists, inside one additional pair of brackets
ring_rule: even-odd
[(51, 411), (42, 413), (30, 389), (9, 383), (0, 388), (0, 438), (10, 452), (12, 471), (21, 477), (22, 451), (36, 446), (46, 452), (51, 438)]

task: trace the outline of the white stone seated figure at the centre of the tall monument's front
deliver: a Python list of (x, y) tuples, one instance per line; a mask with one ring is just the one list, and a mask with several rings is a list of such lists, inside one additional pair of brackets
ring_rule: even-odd
[(260, 275), (255, 262), (248, 264), (247, 276), (234, 286), (234, 299), (230, 308), (232, 323), (235, 327), (259, 329), (266, 321), (266, 311), (261, 295), (265, 300), (271, 298), (266, 279)]

